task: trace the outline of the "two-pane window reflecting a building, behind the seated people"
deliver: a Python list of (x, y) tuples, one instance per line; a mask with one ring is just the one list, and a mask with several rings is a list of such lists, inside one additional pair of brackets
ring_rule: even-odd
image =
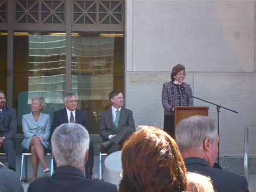
[[(50, 114), (65, 107), (66, 65), (71, 65), (71, 90), (78, 106), (87, 112), (90, 133), (99, 133), (99, 114), (110, 108), (108, 94), (123, 92), (123, 34), (115, 32), (73, 32), (71, 45), (66, 33), (27, 31), (14, 33), (13, 107), (18, 112), (18, 133), (22, 115), (31, 112), (31, 98), (44, 96)], [(71, 63), (66, 64), (66, 47)], [(68, 72), (68, 73), (69, 73)]]

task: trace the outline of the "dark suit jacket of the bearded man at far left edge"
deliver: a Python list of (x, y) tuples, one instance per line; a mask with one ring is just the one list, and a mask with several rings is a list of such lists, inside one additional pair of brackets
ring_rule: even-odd
[(17, 133), (17, 117), (16, 111), (8, 106), (2, 110), (0, 119), (0, 137), (6, 136), (15, 142)]

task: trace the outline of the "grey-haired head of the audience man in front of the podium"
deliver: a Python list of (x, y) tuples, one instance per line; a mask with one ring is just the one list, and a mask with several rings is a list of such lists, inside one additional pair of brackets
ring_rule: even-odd
[(176, 141), (183, 159), (201, 157), (213, 166), (219, 151), (215, 120), (201, 115), (187, 117), (176, 127)]

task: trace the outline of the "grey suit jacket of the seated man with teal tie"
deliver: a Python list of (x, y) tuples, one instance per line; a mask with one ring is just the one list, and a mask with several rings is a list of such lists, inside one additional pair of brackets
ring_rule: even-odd
[(121, 108), (117, 131), (113, 123), (112, 109), (110, 108), (100, 114), (99, 134), (103, 138), (103, 142), (108, 141), (110, 135), (118, 134), (127, 128), (135, 131), (133, 112), (131, 110)]

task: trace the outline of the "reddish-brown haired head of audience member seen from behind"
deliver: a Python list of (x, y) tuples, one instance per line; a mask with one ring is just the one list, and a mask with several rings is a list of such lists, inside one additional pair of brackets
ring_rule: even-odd
[(140, 128), (122, 147), (119, 192), (185, 190), (186, 168), (175, 140), (155, 127)]

